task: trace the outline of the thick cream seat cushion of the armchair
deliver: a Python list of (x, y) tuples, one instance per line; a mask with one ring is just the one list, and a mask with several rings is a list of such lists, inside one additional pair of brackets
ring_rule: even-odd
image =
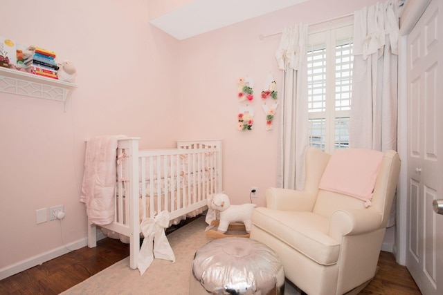
[(253, 224), (321, 265), (334, 265), (340, 242), (327, 235), (329, 219), (312, 212), (255, 208)]

